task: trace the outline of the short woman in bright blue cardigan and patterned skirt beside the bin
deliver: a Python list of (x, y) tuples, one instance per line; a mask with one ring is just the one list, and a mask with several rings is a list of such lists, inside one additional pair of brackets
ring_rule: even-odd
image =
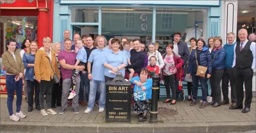
[(144, 122), (147, 120), (147, 114), (151, 109), (151, 95), (152, 95), (152, 79), (148, 79), (148, 69), (142, 68), (139, 76), (133, 77), (131, 83), (134, 84), (134, 111), (139, 113), (138, 121)]

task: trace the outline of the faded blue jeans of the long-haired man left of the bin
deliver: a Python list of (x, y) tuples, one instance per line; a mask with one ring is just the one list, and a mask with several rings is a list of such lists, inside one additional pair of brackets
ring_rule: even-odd
[(106, 103), (106, 85), (105, 81), (97, 81), (91, 80), (90, 81), (90, 93), (89, 93), (89, 101), (87, 108), (93, 109), (96, 92), (100, 88), (100, 99), (99, 99), (99, 108), (104, 108)]

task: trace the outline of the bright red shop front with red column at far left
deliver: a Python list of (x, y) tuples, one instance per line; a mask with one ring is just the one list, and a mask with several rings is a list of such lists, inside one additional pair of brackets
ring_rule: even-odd
[[(0, 0), (0, 55), (7, 50), (6, 39), (17, 41), (17, 51), (26, 38), (37, 41), (39, 47), (44, 37), (52, 39), (52, 10), (51, 0)], [(0, 92), (6, 93), (2, 63)]]

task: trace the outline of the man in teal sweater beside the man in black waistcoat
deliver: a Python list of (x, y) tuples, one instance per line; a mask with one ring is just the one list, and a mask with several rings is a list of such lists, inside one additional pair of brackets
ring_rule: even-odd
[(236, 88), (235, 88), (235, 79), (233, 76), (233, 60), (234, 60), (234, 46), (236, 44), (235, 41), (236, 35), (233, 32), (227, 34), (228, 43), (223, 46), (226, 50), (226, 57), (225, 57), (225, 70), (222, 77), (222, 94), (223, 94), (223, 101), (221, 105), (229, 104), (228, 98), (228, 83), (230, 82), (231, 87), (231, 106), (236, 106)]

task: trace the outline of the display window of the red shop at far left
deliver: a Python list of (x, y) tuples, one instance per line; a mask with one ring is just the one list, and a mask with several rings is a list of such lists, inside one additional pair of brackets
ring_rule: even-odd
[[(6, 51), (6, 39), (13, 38), (19, 48), (24, 39), (37, 41), (37, 17), (5, 16), (1, 17), (1, 55)], [(18, 47), (17, 46), (17, 47)], [(2, 50), (4, 49), (4, 50)], [(18, 49), (19, 50), (19, 49)]]

